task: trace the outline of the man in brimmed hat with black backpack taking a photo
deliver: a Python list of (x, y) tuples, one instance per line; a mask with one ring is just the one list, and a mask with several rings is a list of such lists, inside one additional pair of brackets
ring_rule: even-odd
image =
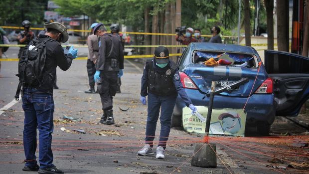
[[(15, 100), (22, 87), (24, 111), (23, 147), (25, 166), (22, 171), (38, 171), (39, 174), (63, 174), (53, 165), (51, 150), (53, 133), (53, 86), (56, 69), (66, 71), (77, 57), (77, 49), (71, 46), (64, 53), (60, 42), (68, 40), (66, 27), (58, 22), (44, 23), (46, 33), (29, 42), (18, 62), (19, 84)], [(39, 164), (37, 165), (36, 129), (39, 130)]]

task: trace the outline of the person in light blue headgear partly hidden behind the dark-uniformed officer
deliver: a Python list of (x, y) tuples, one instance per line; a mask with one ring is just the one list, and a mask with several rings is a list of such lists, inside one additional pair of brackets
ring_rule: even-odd
[(87, 73), (89, 79), (90, 89), (85, 91), (87, 94), (96, 93), (94, 86), (94, 73), (96, 72), (95, 64), (97, 63), (99, 57), (99, 40), (98, 36), (93, 32), (94, 27), (97, 26), (98, 23), (91, 24), (91, 34), (87, 37), (87, 45), (88, 45), (88, 59), (87, 59)]

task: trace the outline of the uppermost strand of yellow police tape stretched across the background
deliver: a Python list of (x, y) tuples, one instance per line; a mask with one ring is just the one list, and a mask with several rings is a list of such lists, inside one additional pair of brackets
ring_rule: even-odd
[[(9, 28), (9, 29), (19, 29), (21, 30), (22, 27), (20, 26), (0, 26), (2, 28)], [(32, 30), (43, 30), (44, 28), (35, 28), (31, 27)], [(68, 31), (76, 31), (76, 32), (91, 32), (91, 30), (84, 30), (84, 29), (68, 29)], [(176, 36), (176, 33), (154, 33), (154, 32), (120, 32), (126, 34), (142, 34), (142, 35), (166, 35), (166, 36)], [(201, 34), (203, 37), (211, 37), (212, 35)], [(222, 36), (222, 37), (237, 37), (237, 36)]]

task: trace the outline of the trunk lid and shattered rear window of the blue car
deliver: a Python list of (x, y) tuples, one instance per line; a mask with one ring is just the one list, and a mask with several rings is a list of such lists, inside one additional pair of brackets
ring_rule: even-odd
[[(264, 71), (260, 71), (257, 76), (258, 61), (254, 55), (209, 51), (195, 51), (193, 55), (194, 63), (189, 66), (189, 72), (186, 73), (203, 93), (210, 92), (211, 81), (216, 81), (216, 88), (219, 88), (248, 77), (249, 81), (245, 84), (220, 94), (248, 97), (252, 86), (254, 85), (253, 93), (265, 80)], [(210, 58), (214, 58), (217, 62), (224, 64), (219, 64), (218, 66), (204, 65), (204, 61)], [(256, 77), (257, 80), (255, 82)]]

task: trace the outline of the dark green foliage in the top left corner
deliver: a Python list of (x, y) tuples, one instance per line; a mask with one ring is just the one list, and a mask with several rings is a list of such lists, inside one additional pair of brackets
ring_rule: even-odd
[(41, 24), (48, 0), (0, 0), (0, 24), (20, 25), (22, 20)]

